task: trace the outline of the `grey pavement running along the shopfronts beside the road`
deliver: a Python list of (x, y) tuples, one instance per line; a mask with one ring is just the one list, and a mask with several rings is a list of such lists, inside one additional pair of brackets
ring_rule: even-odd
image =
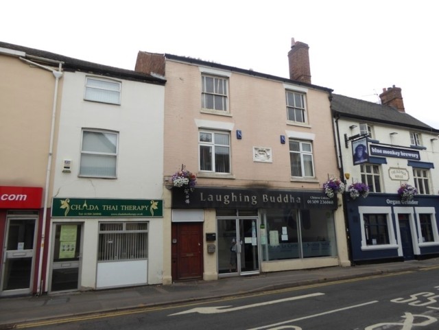
[(0, 298), (0, 329), (26, 322), (110, 313), (212, 298), (238, 296), (286, 287), (357, 279), (425, 268), (439, 268), (439, 258), (351, 267), (329, 267), (226, 277), (217, 281), (182, 281), (112, 290)]

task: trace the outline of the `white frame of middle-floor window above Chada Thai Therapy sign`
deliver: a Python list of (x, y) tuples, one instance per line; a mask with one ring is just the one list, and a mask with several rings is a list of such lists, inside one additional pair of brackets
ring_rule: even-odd
[[(115, 145), (115, 152), (97, 152), (95, 150), (84, 150), (84, 134), (86, 132), (91, 133), (100, 133), (100, 134), (112, 134), (115, 135), (116, 138), (116, 145)], [(80, 168), (79, 168), (79, 176), (82, 177), (91, 177), (91, 178), (117, 178), (117, 163), (118, 163), (118, 154), (119, 154), (119, 132), (110, 131), (110, 130), (94, 130), (94, 129), (88, 129), (83, 128), (81, 132), (81, 152), (80, 152)], [(82, 166), (84, 161), (84, 157), (86, 156), (94, 156), (97, 159), (100, 158), (115, 158), (115, 169), (114, 169), (114, 175), (104, 175), (104, 174), (90, 174), (84, 172), (82, 170)]]

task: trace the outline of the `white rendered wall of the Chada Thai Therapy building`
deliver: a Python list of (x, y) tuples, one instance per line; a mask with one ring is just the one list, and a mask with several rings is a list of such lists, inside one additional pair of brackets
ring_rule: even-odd
[[(86, 74), (65, 72), (59, 118), (57, 156), (53, 168), (56, 198), (163, 198), (163, 112), (165, 87), (121, 81), (121, 104), (84, 101)], [(98, 76), (98, 78), (101, 78)], [(82, 128), (119, 132), (117, 178), (78, 176)], [(71, 160), (71, 173), (63, 173), (64, 160)], [(80, 287), (96, 288), (99, 222), (149, 221), (147, 279), (162, 283), (163, 217), (155, 218), (52, 218), (52, 222), (82, 222), (82, 269)], [(52, 246), (52, 234), (49, 246)], [(52, 258), (52, 257), (50, 257)], [(50, 262), (49, 262), (50, 264)], [(49, 265), (50, 268), (50, 265)], [(126, 270), (129, 272), (130, 270)], [(48, 274), (51, 270), (48, 269)], [(50, 275), (49, 275), (50, 276)], [(117, 283), (115, 283), (116, 285)]]

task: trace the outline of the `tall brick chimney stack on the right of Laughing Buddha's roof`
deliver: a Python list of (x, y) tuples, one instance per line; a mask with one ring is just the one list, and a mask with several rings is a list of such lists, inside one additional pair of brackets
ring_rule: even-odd
[(289, 79), (311, 84), (309, 69), (309, 46), (291, 39), (291, 50), (288, 52)]

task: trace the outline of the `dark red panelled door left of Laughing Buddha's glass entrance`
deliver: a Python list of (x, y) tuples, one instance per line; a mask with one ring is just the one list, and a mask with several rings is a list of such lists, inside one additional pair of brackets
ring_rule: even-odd
[(172, 276), (176, 280), (202, 278), (202, 222), (172, 224)]

